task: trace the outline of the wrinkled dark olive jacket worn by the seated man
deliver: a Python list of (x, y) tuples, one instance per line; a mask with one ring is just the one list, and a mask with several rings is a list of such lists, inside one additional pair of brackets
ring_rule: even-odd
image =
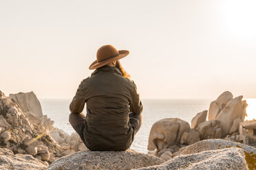
[(87, 114), (81, 138), (90, 150), (125, 150), (134, 141), (129, 112), (140, 114), (142, 103), (133, 81), (114, 66), (96, 69), (83, 80), (70, 111)]

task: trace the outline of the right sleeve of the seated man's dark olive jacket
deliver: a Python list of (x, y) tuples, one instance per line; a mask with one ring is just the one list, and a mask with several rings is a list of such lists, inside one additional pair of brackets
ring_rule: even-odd
[(130, 104), (130, 112), (134, 112), (136, 114), (140, 114), (143, 110), (142, 103), (140, 101), (140, 95), (137, 92), (136, 85), (133, 84), (134, 87), (131, 92), (131, 104)]

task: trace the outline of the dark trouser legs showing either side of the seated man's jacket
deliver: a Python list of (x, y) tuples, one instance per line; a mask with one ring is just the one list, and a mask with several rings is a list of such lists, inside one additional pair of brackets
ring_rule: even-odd
[[(129, 121), (131, 124), (131, 128), (134, 130), (134, 136), (140, 129), (142, 125), (142, 114), (136, 114), (134, 112), (129, 113)], [(70, 124), (76, 130), (76, 132), (81, 136), (83, 141), (83, 130), (85, 128), (85, 114), (82, 112), (80, 114), (70, 113)]]

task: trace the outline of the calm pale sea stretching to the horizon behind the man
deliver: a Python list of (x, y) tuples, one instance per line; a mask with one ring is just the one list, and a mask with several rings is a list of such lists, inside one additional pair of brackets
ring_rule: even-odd
[[(134, 138), (131, 149), (147, 153), (149, 132), (156, 121), (165, 118), (180, 118), (191, 124), (195, 114), (209, 110), (211, 101), (214, 99), (141, 99), (143, 104), (143, 122), (140, 130)], [(68, 121), (70, 114), (69, 105), (72, 99), (40, 99), (43, 114), (50, 117), (55, 123), (54, 126), (64, 130), (68, 134), (75, 131)], [(247, 103), (255, 107), (248, 107), (247, 113), (256, 111), (256, 99), (246, 99)], [(86, 109), (83, 111), (86, 114)], [(253, 117), (255, 117), (253, 114)], [(250, 115), (250, 118), (253, 118)]]

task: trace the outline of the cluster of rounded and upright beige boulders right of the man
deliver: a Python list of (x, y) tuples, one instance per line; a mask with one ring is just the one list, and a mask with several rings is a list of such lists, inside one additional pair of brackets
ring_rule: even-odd
[[(222, 93), (220, 97), (211, 102), (209, 121), (206, 121), (207, 110), (199, 112), (191, 121), (191, 129), (182, 121), (185, 126), (183, 130), (178, 130), (181, 126), (179, 123), (173, 123), (176, 119), (157, 121), (152, 125), (149, 134), (149, 153), (158, 157), (162, 156), (164, 160), (167, 160), (177, 155), (173, 149), (169, 150), (171, 147), (178, 147), (181, 151), (187, 145), (210, 138), (239, 141), (238, 127), (246, 117), (247, 107), (246, 101), (242, 101), (242, 98), (239, 96), (233, 99), (233, 95), (228, 91)], [(164, 154), (164, 151), (170, 153)]]

